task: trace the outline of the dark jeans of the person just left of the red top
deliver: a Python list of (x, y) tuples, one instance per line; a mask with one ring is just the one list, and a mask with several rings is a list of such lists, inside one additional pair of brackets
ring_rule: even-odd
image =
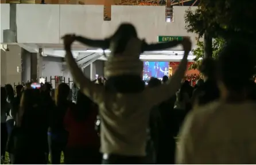
[(48, 135), (49, 153), (51, 155), (52, 164), (60, 164), (61, 152), (64, 151), (66, 142), (53, 138)]

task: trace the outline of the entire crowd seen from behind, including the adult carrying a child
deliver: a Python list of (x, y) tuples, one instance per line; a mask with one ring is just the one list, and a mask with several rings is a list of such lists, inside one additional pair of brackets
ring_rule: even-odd
[[(133, 30), (125, 32), (119, 35)], [(57, 87), (55, 98), (51, 84), (40, 89), (18, 85), (15, 94), (11, 85), (1, 87), (1, 158), (7, 151), (13, 164), (46, 164), (50, 155), (52, 164), (60, 164), (63, 152), (66, 164), (255, 164), (256, 85), (250, 80), (250, 48), (241, 41), (228, 42), (218, 60), (203, 60), (204, 78), (191, 87), (188, 81), (181, 83), (191, 41), (172, 41), (184, 48), (179, 68), (170, 80), (152, 77), (145, 85), (136, 54), (152, 49), (131, 34), (113, 46), (104, 83), (85, 77), (71, 52), (74, 41), (96, 42), (64, 36), (76, 83), (72, 99), (65, 83)], [(115, 44), (115, 37), (99, 43)], [(238, 65), (234, 72), (232, 66)]]

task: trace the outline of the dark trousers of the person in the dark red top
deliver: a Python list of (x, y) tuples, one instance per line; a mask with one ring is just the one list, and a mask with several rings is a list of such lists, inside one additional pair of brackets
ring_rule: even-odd
[(98, 148), (68, 147), (65, 150), (66, 164), (100, 164), (101, 159)]

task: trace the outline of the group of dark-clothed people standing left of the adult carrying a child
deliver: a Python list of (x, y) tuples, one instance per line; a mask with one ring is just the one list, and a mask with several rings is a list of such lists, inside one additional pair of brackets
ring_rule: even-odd
[[(1, 87), (1, 161), (11, 164), (100, 164), (95, 129), (98, 107), (80, 91), (76, 104), (70, 88), (60, 84), (52, 98), (51, 84), (40, 89), (10, 84)], [(69, 99), (70, 98), (70, 99)], [(6, 144), (6, 145), (5, 145)], [(5, 158), (5, 152), (9, 158)]]

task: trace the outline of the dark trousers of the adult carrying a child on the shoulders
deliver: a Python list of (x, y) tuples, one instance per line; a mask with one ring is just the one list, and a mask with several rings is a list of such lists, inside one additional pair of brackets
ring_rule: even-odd
[(103, 154), (102, 164), (145, 164), (145, 157)]

